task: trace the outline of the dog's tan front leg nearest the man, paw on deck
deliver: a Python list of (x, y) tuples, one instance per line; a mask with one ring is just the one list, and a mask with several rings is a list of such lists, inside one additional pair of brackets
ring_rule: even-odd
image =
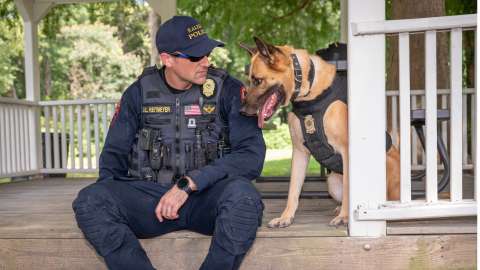
[(310, 159), (310, 152), (303, 145), (304, 140), (300, 120), (293, 113), (288, 114), (288, 126), (290, 129), (293, 149), (287, 206), (279, 218), (274, 218), (268, 223), (268, 227), (270, 228), (283, 228), (292, 224), (295, 212), (298, 208), (298, 199), (300, 197), (300, 192), (302, 191), (308, 161)]

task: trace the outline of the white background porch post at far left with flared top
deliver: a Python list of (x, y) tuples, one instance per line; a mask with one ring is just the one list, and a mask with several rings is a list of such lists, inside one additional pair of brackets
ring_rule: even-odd
[[(34, 0), (15, 0), (24, 25), (26, 100), (40, 101), (40, 66), (38, 63), (38, 22), (54, 5), (53, 2), (36, 3)], [(33, 107), (28, 114), (30, 169), (42, 169), (42, 142), (40, 109)]]

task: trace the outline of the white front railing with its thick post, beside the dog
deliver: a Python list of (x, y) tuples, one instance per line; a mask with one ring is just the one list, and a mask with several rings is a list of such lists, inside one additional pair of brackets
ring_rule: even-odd
[[(361, 2), (361, 3), (360, 3)], [(440, 218), (476, 215), (476, 199), (463, 199), (462, 169), (472, 168), (475, 186), (478, 179), (478, 162), (475, 156), (478, 137), (478, 95), (475, 89), (462, 89), (462, 31), (476, 30), (476, 15), (436, 17), (385, 21), (384, 2), (381, 0), (349, 1), (349, 138), (350, 138), (350, 235), (385, 235), (387, 220)], [(366, 22), (373, 18), (377, 21)], [(438, 90), (436, 81), (436, 31), (450, 32), (450, 90)], [(425, 91), (410, 89), (410, 33), (425, 32)], [(387, 93), (392, 98), (394, 112), (393, 129), (400, 134), (401, 199), (386, 202), (385, 195), (385, 34), (399, 35), (399, 92)], [(442, 44), (443, 45), (443, 44)], [(445, 44), (448, 46), (448, 44)], [(365, 70), (365, 65), (368, 69)], [(368, 92), (367, 92), (368, 89)], [(463, 95), (462, 95), (463, 93)], [(425, 109), (425, 156), (419, 164), (418, 144), (412, 129), (411, 106), (416, 95), (423, 95)], [(438, 198), (437, 161), (437, 96), (441, 107), (449, 101), (449, 125), (441, 123), (442, 139), (449, 142), (450, 199)], [(467, 95), (472, 95), (471, 149), (467, 149), (465, 136), (467, 124)], [(397, 97), (398, 96), (398, 99)], [(398, 102), (399, 101), (399, 102)], [(373, 105), (375, 104), (375, 105)], [(383, 118), (382, 118), (383, 117)], [(371, 121), (377, 119), (380, 121)], [(368, 127), (368, 128), (367, 128)], [(413, 147), (413, 148), (412, 148)], [(362, 154), (363, 153), (363, 154)], [(369, 158), (364, 155), (368, 153)], [(413, 155), (412, 155), (413, 154)], [(470, 159), (468, 158), (470, 157)], [(413, 160), (412, 160), (413, 159)], [(470, 160), (470, 161), (469, 161)], [(412, 164), (426, 170), (426, 199), (412, 200)], [(382, 170), (372, 172), (371, 168)], [(368, 184), (365, 184), (367, 183)], [(373, 187), (373, 188), (372, 188)]]

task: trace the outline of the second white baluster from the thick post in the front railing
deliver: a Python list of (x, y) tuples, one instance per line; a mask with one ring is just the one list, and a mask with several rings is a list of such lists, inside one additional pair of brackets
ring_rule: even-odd
[(436, 32), (425, 33), (425, 126), (427, 202), (436, 202), (437, 196), (437, 42)]

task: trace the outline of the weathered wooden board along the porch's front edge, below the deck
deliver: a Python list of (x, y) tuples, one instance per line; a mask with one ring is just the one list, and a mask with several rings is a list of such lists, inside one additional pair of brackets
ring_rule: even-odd
[[(475, 269), (475, 235), (257, 238), (240, 269)], [(158, 269), (198, 269), (209, 238), (141, 240)], [(83, 239), (0, 240), (0, 269), (106, 269)]]

